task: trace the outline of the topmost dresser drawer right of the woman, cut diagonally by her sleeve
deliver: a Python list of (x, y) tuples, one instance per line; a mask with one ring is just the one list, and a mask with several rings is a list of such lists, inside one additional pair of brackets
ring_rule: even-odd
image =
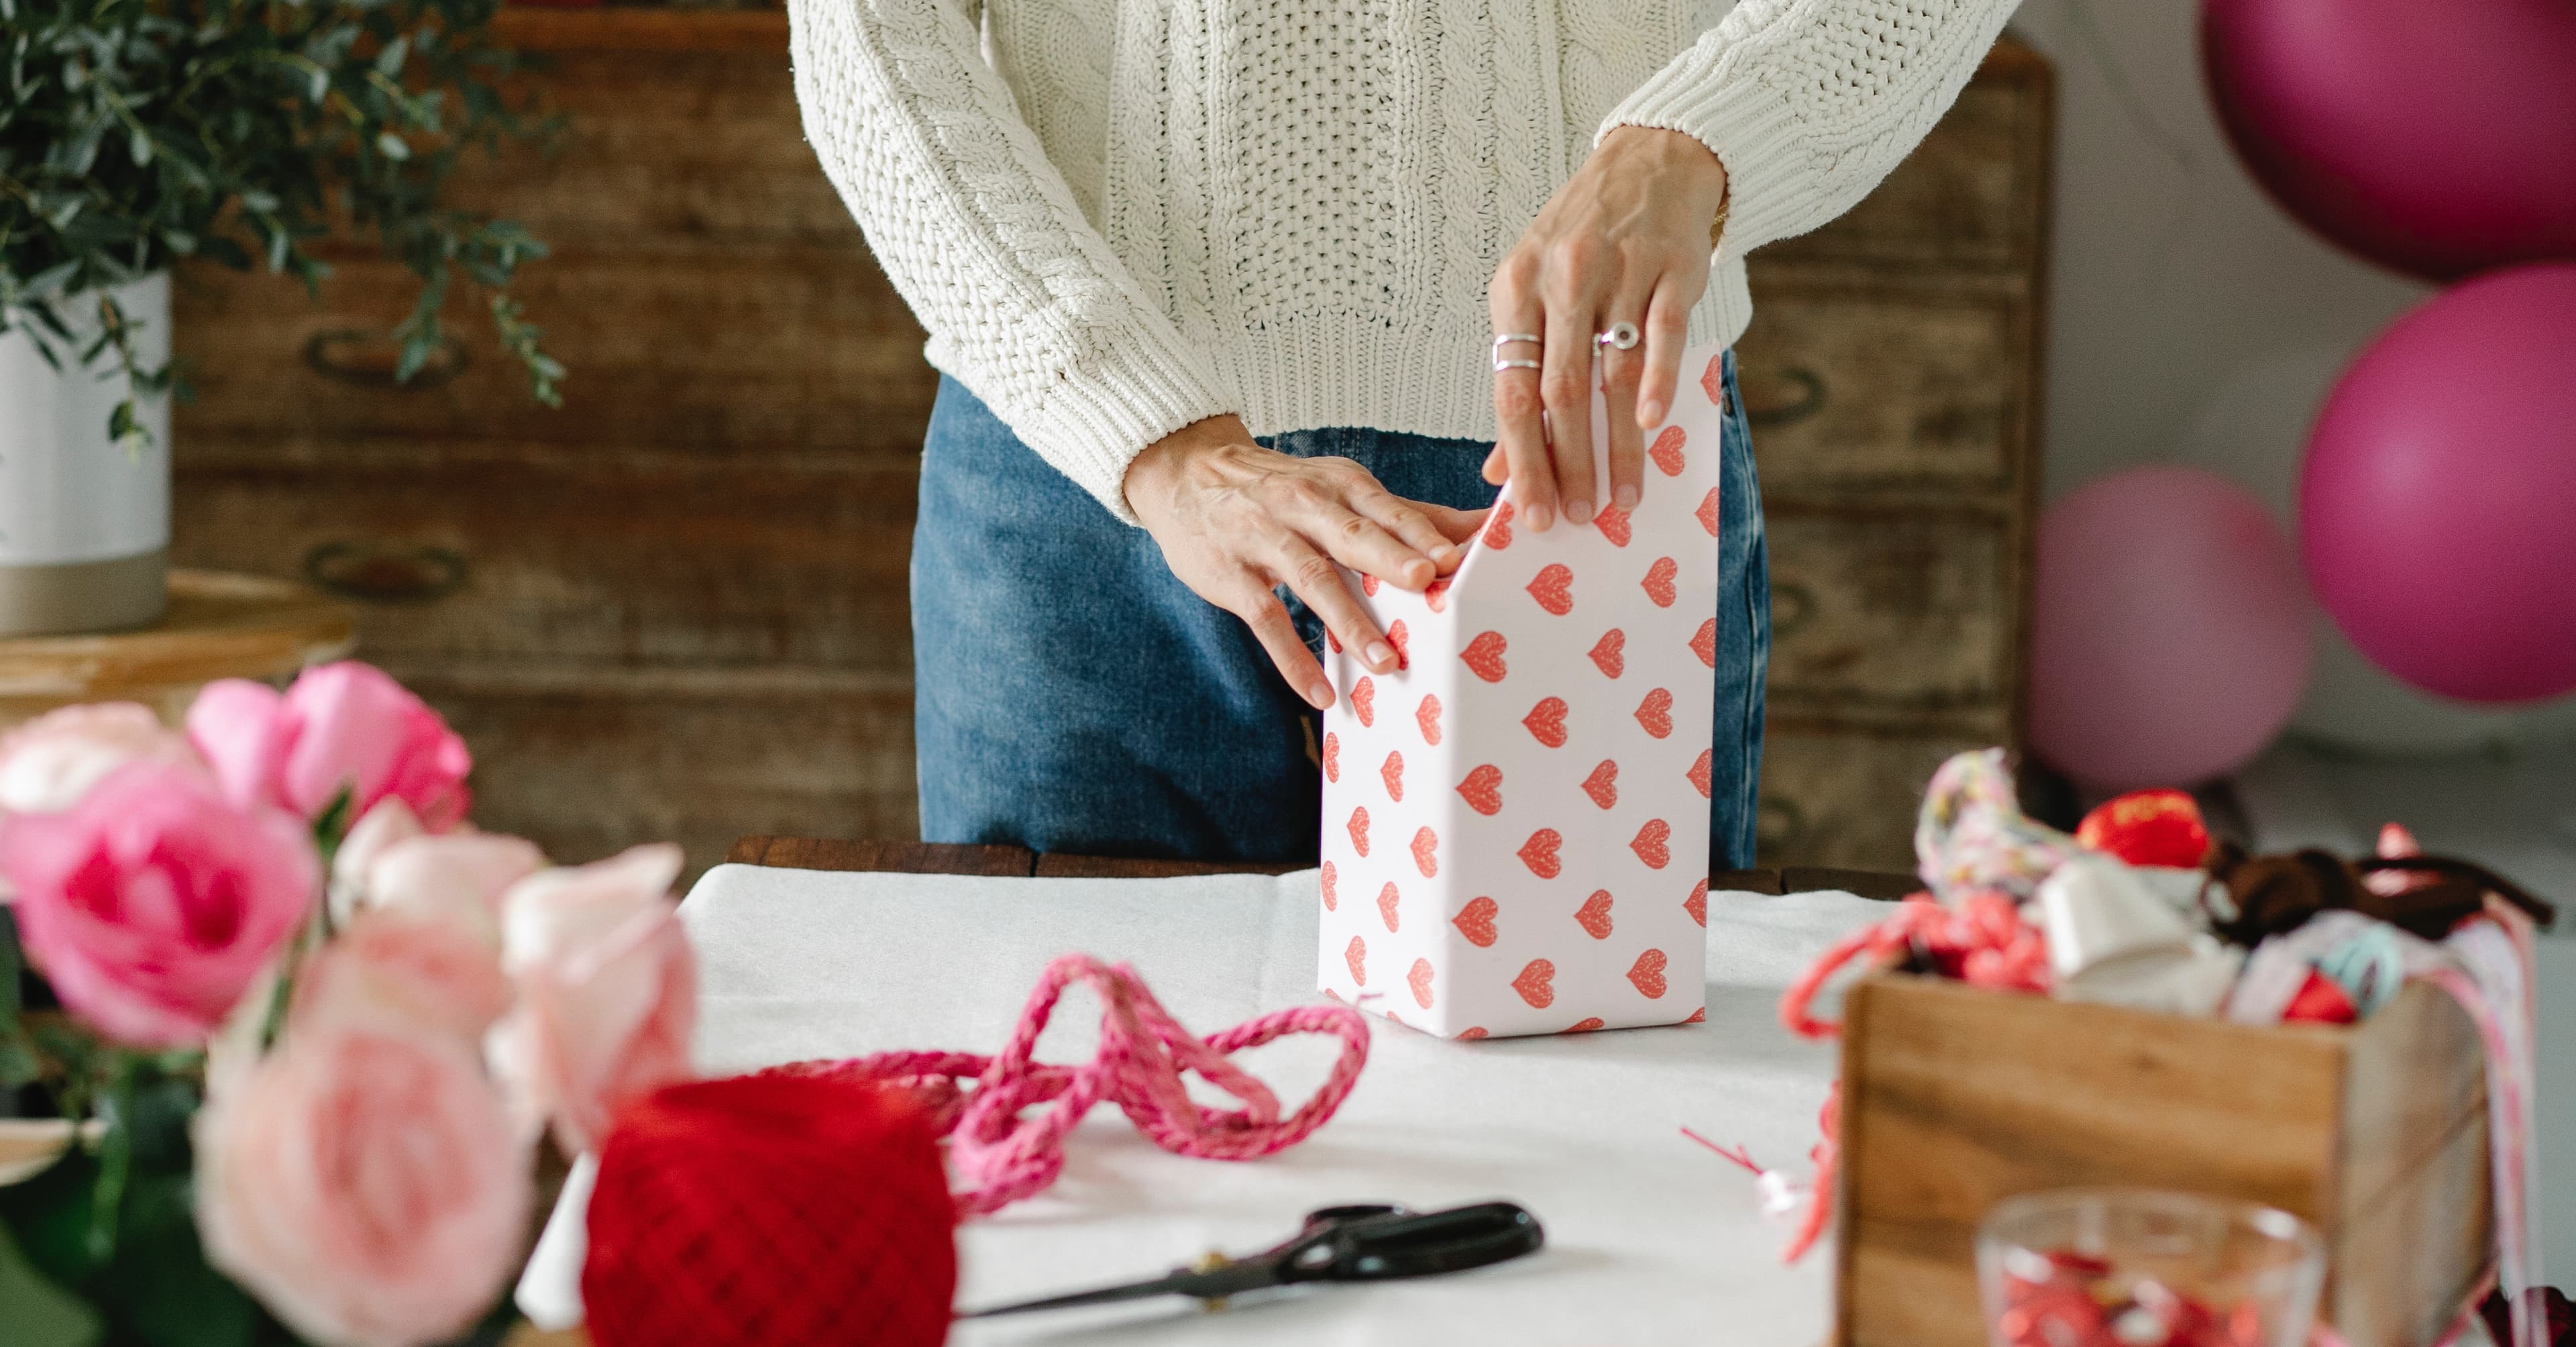
[(2027, 270), (2048, 198), (2048, 67), (1996, 46), (1924, 142), (1850, 214), (1754, 252), (1795, 263)]

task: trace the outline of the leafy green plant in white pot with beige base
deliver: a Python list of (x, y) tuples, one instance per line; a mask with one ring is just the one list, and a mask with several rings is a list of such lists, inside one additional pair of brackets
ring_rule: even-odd
[(500, 93), (500, 0), (0, 0), (0, 636), (142, 626), (170, 538), (170, 265), (314, 288), (371, 237), (420, 276), (397, 376), (487, 291), (538, 402), (562, 376), (510, 278), (546, 250), (448, 201), (541, 131)]

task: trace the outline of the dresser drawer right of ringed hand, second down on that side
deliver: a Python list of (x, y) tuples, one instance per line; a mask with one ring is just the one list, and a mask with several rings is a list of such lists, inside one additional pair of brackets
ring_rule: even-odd
[(2032, 348), (2014, 296), (1757, 270), (1736, 368), (1767, 495), (2017, 484)]

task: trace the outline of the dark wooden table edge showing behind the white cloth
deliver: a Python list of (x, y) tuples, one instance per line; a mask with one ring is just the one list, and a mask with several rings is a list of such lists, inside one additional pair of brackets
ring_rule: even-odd
[[(729, 865), (781, 865), (788, 871), (894, 871), (912, 876), (997, 876), (997, 878), (1172, 878), (1262, 873), (1278, 876), (1306, 865), (1255, 865), (1211, 860), (1133, 860), (1113, 855), (1033, 852), (1028, 847), (958, 842), (881, 842), (835, 837), (742, 837), (724, 858)], [(1914, 876), (1888, 871), (1832, 871), (1788, 865), (1777, 871), (1718, 871), (1710, 889), (1747, 894), (1803, 894), (1842, 889), (1862, 899), (1901, 899), (1922, 889)]]

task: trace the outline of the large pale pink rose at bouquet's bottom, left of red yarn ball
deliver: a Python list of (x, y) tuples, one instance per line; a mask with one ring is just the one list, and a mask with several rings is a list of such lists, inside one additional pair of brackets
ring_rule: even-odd
[(526, 1254), (528, 1138), (456, 1035), (299, 1012), (196, 1115), (206, 1259), (312, 1342), (448, 1339)]

